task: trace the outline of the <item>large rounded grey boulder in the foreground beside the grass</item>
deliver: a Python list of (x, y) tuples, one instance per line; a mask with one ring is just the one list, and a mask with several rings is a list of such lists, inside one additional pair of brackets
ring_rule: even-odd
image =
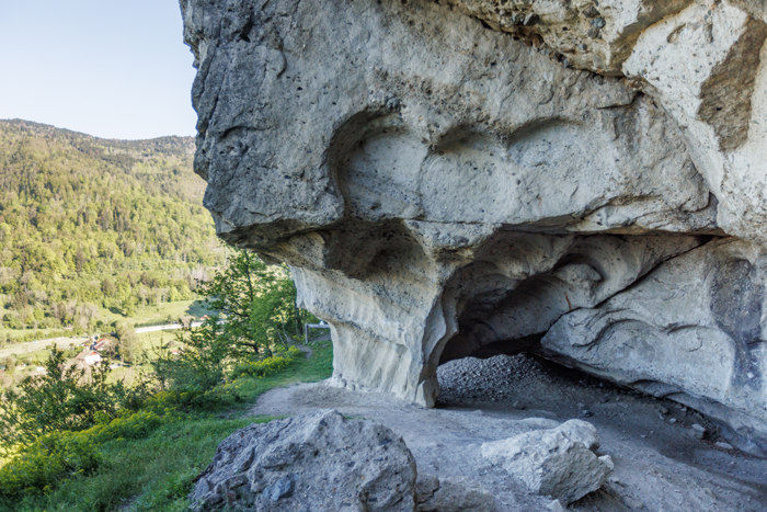
[(325, 409), (234, 432), (190, 498), (199, 511), (413, 512), (415, 462), (380, 423)]

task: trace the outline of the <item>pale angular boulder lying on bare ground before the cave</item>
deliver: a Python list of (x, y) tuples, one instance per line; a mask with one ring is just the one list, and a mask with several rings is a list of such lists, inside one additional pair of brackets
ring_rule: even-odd
[(591, 423), (570, 420), (482, 444), (482, 456), (538, 494), (570, 504), (602, 487), (613, 473), (609, 456), (597, 457), (599, 437)]

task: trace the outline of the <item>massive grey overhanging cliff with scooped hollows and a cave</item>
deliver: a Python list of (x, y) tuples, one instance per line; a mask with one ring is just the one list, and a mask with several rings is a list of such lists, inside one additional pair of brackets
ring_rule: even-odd
[(336, 383), (433, 406), (440, 362), (531, 350), (767, 447), (763, 3), (181, 4), (205, 205)]

